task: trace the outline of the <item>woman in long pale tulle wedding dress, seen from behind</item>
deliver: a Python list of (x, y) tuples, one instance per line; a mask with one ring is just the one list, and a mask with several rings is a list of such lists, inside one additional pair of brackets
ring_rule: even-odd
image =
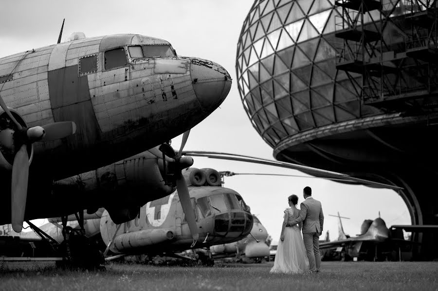
[[(301, 236), (302, 223), (293, 226), (289, 224), (300, 214), (300, 210), (296, 208), (298, 196), (289, 196), (288, 202), (291, 207), (286, 208), (284, 211), (283, 227), (271, 273), (302, 273), (309, 271), (309, 259)], [(287, 225), (291, 227), (286, 227)]]

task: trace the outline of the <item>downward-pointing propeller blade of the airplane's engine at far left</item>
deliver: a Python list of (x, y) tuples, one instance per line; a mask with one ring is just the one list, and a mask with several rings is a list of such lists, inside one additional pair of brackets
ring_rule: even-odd
[(29, 156), (27, 145), (23, 144), (14, 158), (11, 187), (11, 223), (15, 232), (21, 232), (26, 209), (27, 181), (29, 177)]

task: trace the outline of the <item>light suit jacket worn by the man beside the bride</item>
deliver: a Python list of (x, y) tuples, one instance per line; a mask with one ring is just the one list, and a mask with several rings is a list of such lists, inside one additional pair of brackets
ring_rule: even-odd
[(300, 222), (303, 222), (303, 233), (321, 233), (324, 225), (321, 202), (313, 197), (304, 200), (301, 203), (300, 216), (292, 222), (292, 225)]

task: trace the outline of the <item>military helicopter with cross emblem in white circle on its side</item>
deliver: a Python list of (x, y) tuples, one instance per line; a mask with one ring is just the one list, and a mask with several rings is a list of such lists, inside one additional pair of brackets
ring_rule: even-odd
[[(234, 242), (246, 237), (253, 227), (253, 216), (242, 197), (234, 190), (221, 187), (220, 175), (213, 169), (186, 168), (182, 171), (189, 185), (190, 208), (194, 213), (191, 227), (181, 198), (175, 193), (148, 202), (140, 215), (127, 223), (114, 223), (105, 211), (101, 235), (114, 254), (176, 253), (202, 246)], [(177, 190), (180, 195), (179, 190)], [(181, 197), (181, 196), (180, 196)], [(193, 234), (199, 235), (193, 240)]]

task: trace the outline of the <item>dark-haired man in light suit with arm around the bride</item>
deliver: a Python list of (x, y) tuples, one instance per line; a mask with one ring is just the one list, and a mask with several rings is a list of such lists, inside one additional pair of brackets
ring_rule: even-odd
[(321, 202), (313, 199), (310, 187), (303, 189), (303, 195), (305, 200), (301, 203), (300, 216), (287, 226), (303, 222), (303, 240), (309, 258), (310, 271), (319, 272), (321, 267), (319, 236), (321, 236), (323, 230), (324, 214)]

